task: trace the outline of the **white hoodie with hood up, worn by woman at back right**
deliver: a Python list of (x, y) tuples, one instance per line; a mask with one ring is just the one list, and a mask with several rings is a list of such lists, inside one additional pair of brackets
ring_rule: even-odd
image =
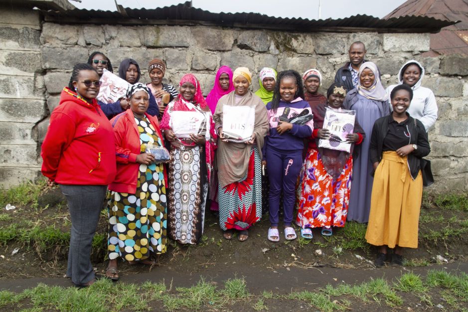
[[(426, 131), (428, 131), (429, 128), (431, 128), (432, 125), (434, 125), (437, 119), (437, 103), (436, 97), (434, 96), (432, 90), (421, 86), (421, 81), (423, 80), (425, 73), (424, 67), (421, 65), (421, 63), (415, 60), (410, 60), (406, 62), (398, 72), (398, 82), (400, 85), (403, 83), (402, 69), (410, 63), (418, 64), (418, 66), (422, 69), (422, 73), (421, 78), (419, 78), (418, 82), (416, 82), (416, 84), (413, 87), (411, 87), (411, 89), (413, 89), (413, 100), (411, 101), (410, 107), (408, 108), (407, 112), (411, 115), (411, 117), (419, 119), (423, 123), (424, 128), (426, 128)], [(391, 85), (387, 87), (386, 91), (389, 98), (390, 93), (396, 86), (397, 85)], [(391, 105), (390, 109), (392, 109)]]

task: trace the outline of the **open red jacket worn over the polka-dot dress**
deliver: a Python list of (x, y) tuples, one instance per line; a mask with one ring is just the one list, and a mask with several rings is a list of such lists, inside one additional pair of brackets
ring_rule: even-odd
[[(157, 118), (145, 113), (148, 121), (156, 130), (157, 136), (161, 139)], [(137, 178), (140, 164), (137, 162), (137, 155), (141, 154), (140, 133), (133, 112), (128, 109), (111, 119), (115, 136), (115, 154), (117, 159), (117, 174), (114, 182), (109, 185), (111, 191), (135, 194), (137, 191)], [(167, 174), (164, 166), (164, 181), (167, 187)]]

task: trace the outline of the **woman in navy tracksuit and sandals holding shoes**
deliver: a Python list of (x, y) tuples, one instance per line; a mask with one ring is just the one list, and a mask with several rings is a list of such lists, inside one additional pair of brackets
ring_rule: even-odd
[(280, 240), (278, 231), (280, 194), (283, 192), (285, 239), (297, 237), (291, 226), (296, 181), (301, 171), (304, 138), (312, 135), (311, 107), (304, 98), (302, 77), (294, 70), (278, 75), (273, 101), (267, 104), (270, 133), (265, 138), (263, 159), (270, 179), (270, 223), (268, 239)]

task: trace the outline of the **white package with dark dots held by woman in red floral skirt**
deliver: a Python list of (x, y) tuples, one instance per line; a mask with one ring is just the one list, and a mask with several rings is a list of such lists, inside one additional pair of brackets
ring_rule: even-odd
[(356, 111), (327, 107), (323, 129), (328, 129), (330, 136), (328, 140), (318, 140), (318, 147), (349, 153), (351, 143), (347, 141), (346, 136), (354, 131), (355, 115)]

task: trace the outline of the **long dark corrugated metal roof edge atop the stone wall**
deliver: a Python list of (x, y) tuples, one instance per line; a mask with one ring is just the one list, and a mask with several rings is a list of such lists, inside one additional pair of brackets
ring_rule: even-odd
[[(310, 20), (305, 18), (272, 17), (260, 13), (212, 13), (195, 8), (190, 2), (156, 9), (119, 8), (120, 11), (73, 9), (66, 11), (43, 10), (47, 21), (67, 23), (120, 23), (120, 24), (204, 24), (224, 27), (263, 28), (276, 30), (436, 32), (454, 22), (426, 16), (404, 16), (380, 19), (369, 15), (354, 15), (339, 19)], [(341, 30), (340, 30), (341, 29)]]

